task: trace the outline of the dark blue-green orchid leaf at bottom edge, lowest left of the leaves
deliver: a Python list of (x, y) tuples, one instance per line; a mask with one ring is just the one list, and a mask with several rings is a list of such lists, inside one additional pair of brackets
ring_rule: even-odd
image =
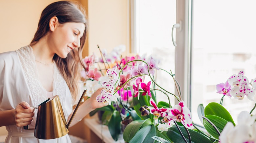
[(156, 135), (154, 125), (148, 125), (141, 128), (129, 143), (154, 143), (152, 136)]

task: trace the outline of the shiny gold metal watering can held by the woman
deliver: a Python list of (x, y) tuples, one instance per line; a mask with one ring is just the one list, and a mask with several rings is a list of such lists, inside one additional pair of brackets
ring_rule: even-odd
[(34, 136), (39, 139), (54, 139), (67, 135), (69, 132), (69, 125), (75, 116), (79, 105), (87, 90), (84, 90), (81, 98), (79, 99), (74, 113), (72, 114), (68, 124), (66, 122), (63, 109), (59, 100), (59, 96), (55, 95), (37, 107), (38, 109), (35, 128), (29, 128), (29, 126), (24, 126), (25, 130), (35, 130)]

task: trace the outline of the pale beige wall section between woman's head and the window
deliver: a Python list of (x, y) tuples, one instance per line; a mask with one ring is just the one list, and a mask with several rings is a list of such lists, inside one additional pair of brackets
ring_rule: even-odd
[(89, 54), (97, 53), (97, 44), (108, 49), (124, 44), (129, 51), (128, 0), (88, 0)]

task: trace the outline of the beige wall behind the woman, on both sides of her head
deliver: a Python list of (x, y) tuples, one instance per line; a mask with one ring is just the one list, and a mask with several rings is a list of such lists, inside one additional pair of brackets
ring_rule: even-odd
[[(57, 0), (1, 0), (0, 53), (28, 45), (33, 38), (40, 14), (48, 4)], [(89, 54), (98, 54), (97, 44), (111, 51), (119, 44), (129, 51), (128, 0), (77, 0), (86, 8), (89, 20)], [(85, 52), (87, 53), (87, 52)], [(7, 134), (0, 127), (0, 135)]]

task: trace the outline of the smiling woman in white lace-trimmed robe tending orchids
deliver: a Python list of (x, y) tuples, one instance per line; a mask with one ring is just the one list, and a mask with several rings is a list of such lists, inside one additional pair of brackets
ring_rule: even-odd
[[(0, 126), (6, 126), (5, 142), (70, 142), (68, 135), (41, 140), (33, 135), (38, 106), (53, 95), (59, 95), (66, 120), (79, 93), (81, 52), (87, 34), (83, 10), (69, 1), (47, 6), (40, 17), (30, 45), (0, 54)], [(80, 105), (71, 126), (103, 104), (92, 98)]]

